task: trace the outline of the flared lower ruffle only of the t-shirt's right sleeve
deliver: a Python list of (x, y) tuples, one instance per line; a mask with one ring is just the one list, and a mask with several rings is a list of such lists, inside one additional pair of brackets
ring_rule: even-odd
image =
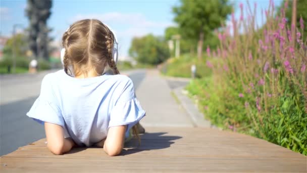
[(109, 127), (127, 125), (127, 137), (129, 135), (129, 129), (144, 116), (145, 111), (136, 98), (118, 102), (111, 111)]

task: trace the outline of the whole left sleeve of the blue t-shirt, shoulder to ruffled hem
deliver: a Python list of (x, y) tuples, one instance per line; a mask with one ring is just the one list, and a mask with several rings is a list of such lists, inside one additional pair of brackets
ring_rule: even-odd
[(49, 76), (46, 75), (41, 82), (40, 95), (26, 115), (41, 124), (49, 122), (65, 128), (64, 118), (56, 103), (52, 82), (50, 82)]

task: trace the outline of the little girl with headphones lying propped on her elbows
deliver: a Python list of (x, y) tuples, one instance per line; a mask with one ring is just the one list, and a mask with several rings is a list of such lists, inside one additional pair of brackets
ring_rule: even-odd
[[(62, 44), (64, 69), (44, 76), (27, 116), (44, 124), (47, 148), (54, 154), (74, 146), (120, 154), (131, 129), (138, 137), (145, 111), (131, 79), (116, 67), (115, 33), (99, 20), (81, 20), (64, 33)], [(107, 66), (116, 75), (106, 73)]]

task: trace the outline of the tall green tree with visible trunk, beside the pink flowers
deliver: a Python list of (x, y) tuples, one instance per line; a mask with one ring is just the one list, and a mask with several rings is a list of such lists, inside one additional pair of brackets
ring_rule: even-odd
[(174, 20), (182, 30), (182, 36), (193, 40), (198, 39), (197, 56), (199, 59), (202, 56), (205, 36), (225, 23), (231, 11), (232, 5), (228, 3), (228, 0), (181, 0), (181, 5), (173, 8), (176, 15)]

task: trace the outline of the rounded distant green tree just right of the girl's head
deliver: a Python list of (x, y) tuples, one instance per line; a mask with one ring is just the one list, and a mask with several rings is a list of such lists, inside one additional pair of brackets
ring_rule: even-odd
[(170, 53), (163, 37), (148, 34), (132, 39), (129, 55), (139, 63), (157, 65), (168, 59)]

